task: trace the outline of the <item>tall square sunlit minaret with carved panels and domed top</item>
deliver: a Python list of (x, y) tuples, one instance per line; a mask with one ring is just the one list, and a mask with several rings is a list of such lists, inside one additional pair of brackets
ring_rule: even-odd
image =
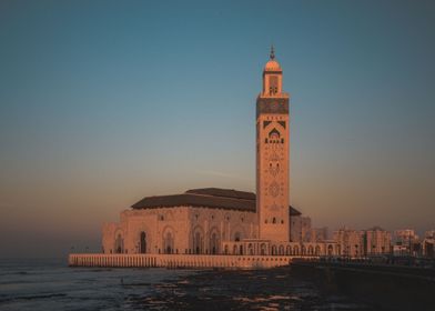
[(256, 211), (260, 239), (290, 240), (289, 221), (289, 93), (273, 47), (256, 99)]

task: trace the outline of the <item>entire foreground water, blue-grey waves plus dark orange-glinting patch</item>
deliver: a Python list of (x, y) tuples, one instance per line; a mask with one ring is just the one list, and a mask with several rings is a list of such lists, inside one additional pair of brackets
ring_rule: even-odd
[(0, 260), (0, 310), (375, 310), (321, 292), (289, 269), (69, 268)]

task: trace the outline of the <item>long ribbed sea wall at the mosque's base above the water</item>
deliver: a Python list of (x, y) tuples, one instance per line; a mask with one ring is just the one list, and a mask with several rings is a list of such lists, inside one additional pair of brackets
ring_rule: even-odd
[[(301, 257), (297, 257), (301, 258)], [(223, 255), (223, 254), (92, 254), (69, 255), (70, 267), (161, 267), (265, 269), (287, 265), (291, 255)], [(313, 259), (313, 257), (310, 257)]]

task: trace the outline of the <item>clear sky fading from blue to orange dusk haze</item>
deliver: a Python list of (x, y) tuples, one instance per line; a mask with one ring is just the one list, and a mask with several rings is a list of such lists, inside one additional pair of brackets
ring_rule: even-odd
[(0, 257), (100, 250), (143, 197), (255, 190), (274, 44), (291, 203), (435, 228), (433, 1), (0, 2)]

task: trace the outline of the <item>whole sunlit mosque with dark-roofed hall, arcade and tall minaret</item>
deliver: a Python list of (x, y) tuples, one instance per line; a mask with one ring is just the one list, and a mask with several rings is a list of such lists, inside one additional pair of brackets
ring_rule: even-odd
[[(234, 255), (290, 261), (335, 253), (333, 242), (307, 243), (292, 237), (291, 220), (301, 213), (290, 205), (290, 94), (282, 86), (283, 71), (272, 48), (256, 99), (256, 193), (204, 188), (145, 197), (122, 211), (119, 222), (103, 224), (105, 257), (95, 260), (113, 265), (118, 262), (111, 259), (114, 255), (153, 255), (155, 262), (163, 262), (160, 265), (168, 265), (169, 259), (181, 264), (209, 257), (219, 258), (210, 264), (221, 267), (223, 258), (227, 260), (224, 265), (234, 265)], [(80, 260), (70, 258), (73, 264), (85, 262)]]

